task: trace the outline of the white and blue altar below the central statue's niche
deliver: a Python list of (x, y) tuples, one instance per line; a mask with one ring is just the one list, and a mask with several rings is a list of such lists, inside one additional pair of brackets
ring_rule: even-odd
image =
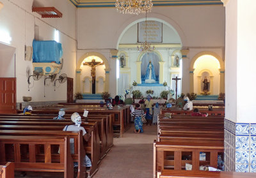
[(142, 93), (142, 96), (146, 97), (147, 91), (152, 90), (154, 91), (153, 94), (150, 94), (152, 97), (160, 97), (160, 93), (162, 91), (170, 90), (170, 87), (164, 86), (163, 84), (138, 84), (137, 86), (132, 86), (132, 91), (139, 90)]

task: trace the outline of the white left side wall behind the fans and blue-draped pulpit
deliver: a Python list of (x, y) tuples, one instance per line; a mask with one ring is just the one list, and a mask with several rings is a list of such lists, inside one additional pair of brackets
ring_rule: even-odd
[[(31, 46), (35, 36), (34, 26), (39, 26), (40, 40), (54, 40), (54, 31), (60, 31), (60, 43), (63, 47), (63, 70), (68, 77), (75, 80), (76, 70), (76, 7), (69, 1), (37, 1), (42, 6), (54, 6), (63, 13), (62, 18), (42, 19), (40, 15), (32, 12), (31, 0), (3, 0), (3, 9), (0, 11), (0, 29), (10, 33), (12, 41), (10, 45), (17, 48), (16, 53), (16, 77), (17, 77), (17, 102), (22, 101), (22, 96), (32, 96), (32, 101), (59, 101), (67, 99), (67, 83), (54, 89), (52, 84), (45, 87), (44, 97), (43, 78), (35, 81), (28, 91), (28, 78), (26, 68), (32, 70), (31, 61), (24, 61), (24, 46)], [(36, 1), (35, 1), (36, 3)], [(1, 40), (0, 40), (1, 41)], [(76, 82), (74, 81), (74, 84)], [(74, 85), (75, 86), (75, 85)], [(74, 89), (75, 91), (75, 89)]]

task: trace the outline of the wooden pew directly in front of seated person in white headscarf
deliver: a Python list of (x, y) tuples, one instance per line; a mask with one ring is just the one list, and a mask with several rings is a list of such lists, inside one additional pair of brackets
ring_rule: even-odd
[[(54, 123), (54, 122), (50, 122)], [(60, 122), (61, 123), (61, 122)], [(18, 125), (0, 125), (0, 130), (28, 130), (28, 131), (62, 131), (64, 126), (63, 125), (42, 125), (42, 124), (31, 124), (29, 125), (21, 125), (20, 123)], [(63, 124), (67, 124), (63, 122)], [(81, 125), (84, 127), (85, 130), (89, 130), (90, 126)], [(86, 153), (90, 154), (91, 161), (92, 161), (92, 167), (90, 168), (90, 175), (95, 174), (98, 170), (98, 161), (100, 158), (100, 144), (96, 142), (96, 133), (93, 131), (92, 136), (90, 137), (90, 140), (87, 143), (84, 143)]]

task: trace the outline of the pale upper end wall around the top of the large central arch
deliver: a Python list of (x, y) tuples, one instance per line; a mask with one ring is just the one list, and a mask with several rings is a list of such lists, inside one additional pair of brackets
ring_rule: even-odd
[[(77, 46), (79, 49), (116, 48), (127, 26), (145, 15), (125, 15), (115, 8), (79, 8)], [(225, 9), (223, 6), (154, 7), (148, 20), (162, 20), (179, 33), (184, 47), (225, 45)]]

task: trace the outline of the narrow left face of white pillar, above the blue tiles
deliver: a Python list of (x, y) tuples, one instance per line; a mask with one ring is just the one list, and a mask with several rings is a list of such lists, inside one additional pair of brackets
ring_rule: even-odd
[(237, 0), (225, 8), (225, 118), (237, 122)]

